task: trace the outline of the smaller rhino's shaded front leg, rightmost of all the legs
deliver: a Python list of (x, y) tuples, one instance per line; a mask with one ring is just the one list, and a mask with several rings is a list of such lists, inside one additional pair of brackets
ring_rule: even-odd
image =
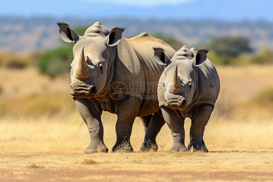
[(188, 149), (203, 150), (208, 152), (203, 140), (205, 126), (210, 118), (213, 107), (205, 104), (196, 109), (193, 118), (191, 118), (191, 127), (189, 131), (190, 143)]

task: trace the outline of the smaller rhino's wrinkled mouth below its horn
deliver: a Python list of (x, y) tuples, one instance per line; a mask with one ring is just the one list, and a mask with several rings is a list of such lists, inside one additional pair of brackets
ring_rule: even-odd
[(187, 105), (187, 100), (179, 94), (167, 93), (165, 95), (165, 107), (171, 109), (183, 109)]

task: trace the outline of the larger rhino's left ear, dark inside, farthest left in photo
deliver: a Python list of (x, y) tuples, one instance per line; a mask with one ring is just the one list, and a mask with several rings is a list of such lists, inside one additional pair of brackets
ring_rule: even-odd
[(76, 43), (79, 40), (80, 37), (73, 30), (71, 30), (67, 23), (58, 22), (57, 24), (60, 27), (60, 36), (65, 42)]

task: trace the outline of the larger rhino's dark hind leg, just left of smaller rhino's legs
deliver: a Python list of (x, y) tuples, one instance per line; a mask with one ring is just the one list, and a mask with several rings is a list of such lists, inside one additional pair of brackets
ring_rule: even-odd
[(145, 133), (144, 142), (140, 148), (141, 151), (150, 151), (151, 149), (157, 151), (156, 136), (165, 124), (161, 109), (155, 112), (151, 118), (150, 124)]

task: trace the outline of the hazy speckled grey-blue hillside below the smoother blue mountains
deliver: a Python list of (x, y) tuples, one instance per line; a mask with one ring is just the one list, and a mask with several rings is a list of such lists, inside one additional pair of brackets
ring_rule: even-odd
[(218, 20), (141, 20), (130, 18), (48, 18), (0, 17), (0, 52), (29, 53), (47, 50), (62, 44), (57, 21), (65, 21), (77, 33), (77, 27), (100, 21), (108, 29), (125, 27), (124, 37), (142, 32), (150, 35), (161, 32), (188, 47), (205, 43), (216, 36), (245, 36), (254, 50), (273, 49), (273, 22)]

